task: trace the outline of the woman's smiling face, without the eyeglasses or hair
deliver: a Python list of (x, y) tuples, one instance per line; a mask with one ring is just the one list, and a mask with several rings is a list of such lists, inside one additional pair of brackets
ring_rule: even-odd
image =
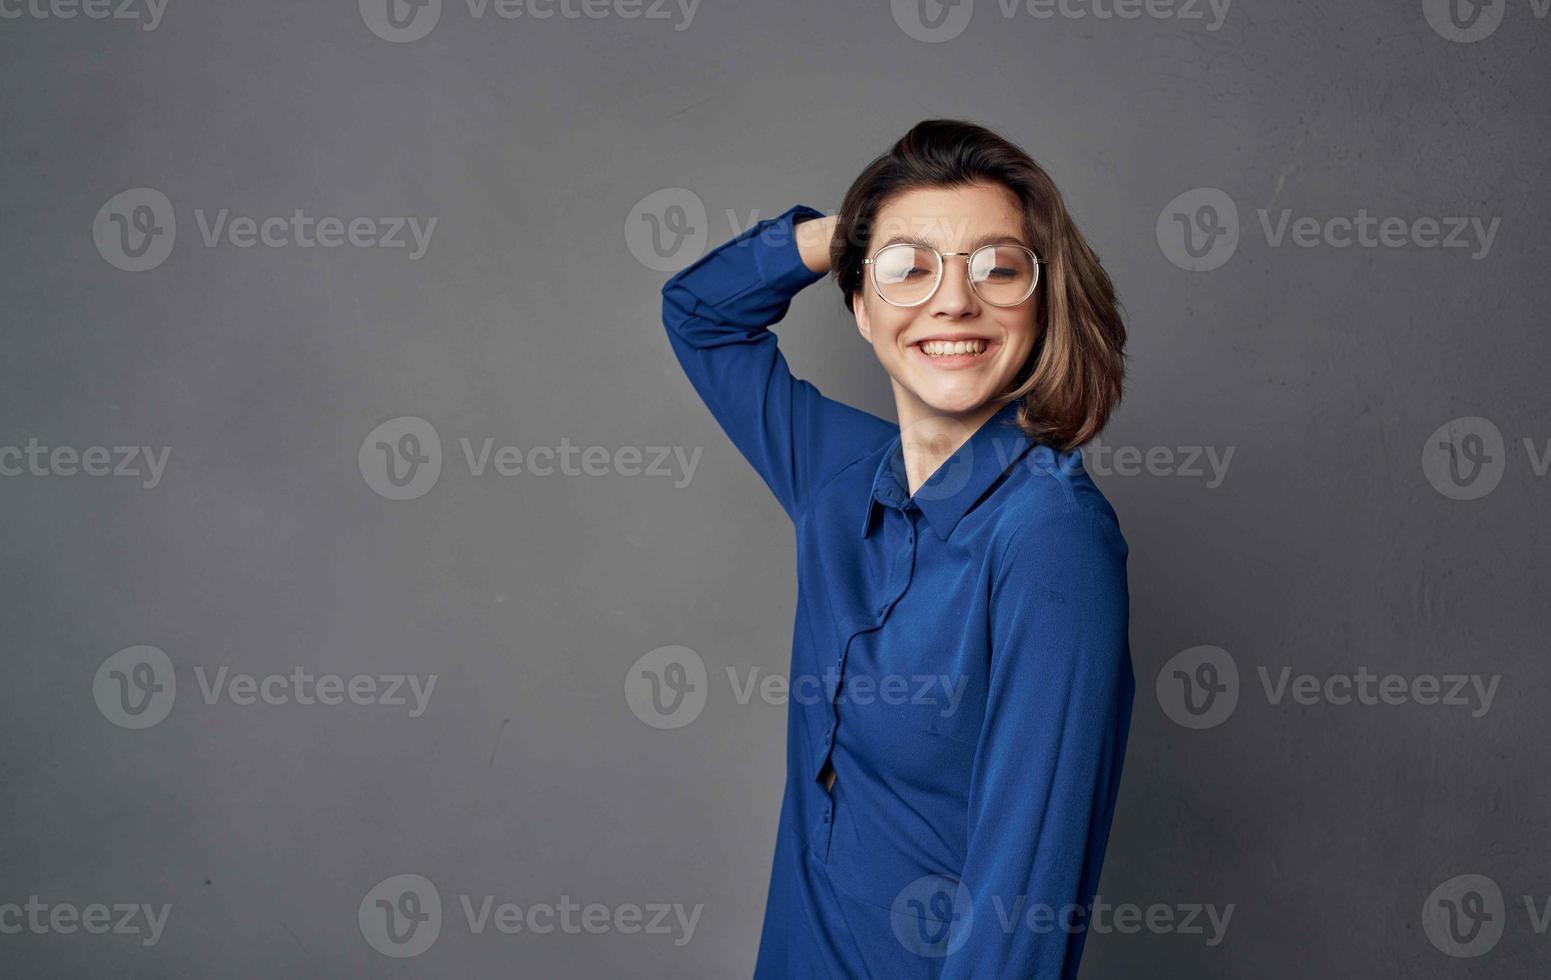
[[(921, 188), (884, 202), (867, 256), (896, 237), (949, 253), (974, 251), (1003, 236), (1033, 248), (1019, 200), (1007, 188)], [(993, 400), (1011, 388), (1035, 347), (1041, 288), (1016, 307), (994, 307), (969, 288), (966, 264), (966, 256), (945, 259), (941, 285), (914, 307), (884, 302), (872, 267), (864, 267), (862, 288), (853, 298), (856, 327), (893, 380), (901, 425), (934, 416), (971, 423), (990, 417), (1000, 406)], [(960, 349), (943, 346), (955, 341), (968, 341), (968, 352), (945, 355)]]

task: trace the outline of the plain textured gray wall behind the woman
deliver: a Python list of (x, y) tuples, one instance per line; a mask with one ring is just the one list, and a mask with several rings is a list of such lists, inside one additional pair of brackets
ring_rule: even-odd
[[(138, 5), (136, 5), (138, 6)], [(1475, 43), (1421, 3), (1242, 3), (1208, 20), (1003, 19), (952, 40), (909, 5), (706, 0), (675, 22), (501, 20), (448, 3), (389, 43), (352, 0), (172, 0), (141, 22), (0, 20), (0, 445), (171, 447), (161, 482), (0, 478), (0, 902), (171, 904), (136, 937), (0, 935), (6, 975), (740, 977), (782, 786), (791, 530), (679, 374), (637, 202), (684, 188), (706, 245), (802, 202), (833, 211), (921, 118), (980, 121), (1055, 177), (1132, 340), (1106, 445), (1233, 448), (1221, 485), (1100, 474), (1131, 543), (1137, 707), (1100, 893), (1231, 904), (1225, 940), (1089, 940), (1084, 977), (1539, 977), (1551, 933), (1546, 243), (1551, 20), (1508, 0)], [(1495, 9), (1503, 8), (1498, 0)], [(14, 11), (17, 8), (8, 6)], [(681, 20), (679, 20), (681, 23)], [(118, 192), (177, 212), (160, 267), (93, 245)], [(1231, 198), (1211, 271), (1155, 233)], [(430, 250), (206, 248), (194, 211), (436, 217)], [(1501, 219), (1492, 250), (1272, 247), (1294, 217)], [(729, 223), (727, 209), (737, 216)], [(700, 254), (681, 256), (679, 265)], [(780, 329), (799, 377), (892, 416), (820, 282)], [(416, 416), (439, 482), (374, 493), (357, 450)], [(1433, 433), (1489, 419), (1501, 482), (1452, 499)], [(473, 476), (498, 445), (704, 447), (687, 487)], [(1537, 453), (1543, 448), (1537, 448)], [(171, 715), (113, 724), (115, 651), (177, 671)], [(693, 648), (710, 699), (658, 730), (625, 699)], [(1205, 730), (1154, 690), (1227, 651)], [(1500, 676), (1492, 709), (1270, 704), (1264, 667)], [(388, 706), (206, 704), (195, 667), (437, 675)], [(377, 882), (439, 889), (437, 941), (380, 955)], [(1501, 940), (1444, 955), (1424, 904), (1504, 895)], [(703, 904), (693, 940), (470, 932), (458, 896)]]

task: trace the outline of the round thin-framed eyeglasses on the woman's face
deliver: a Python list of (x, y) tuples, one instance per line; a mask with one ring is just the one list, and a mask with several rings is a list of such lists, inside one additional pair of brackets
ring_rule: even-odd
[(966, 256), (965, 271), (969, 288), (983, 302), (996, 307), (1014, 307), (1035, 293), (1039, 284), (1039, 267), (1044, 262), (1024, 245), (982, 245), (974, 251), (937, 251), (931, 245), (900, 242), (884, 245), (862, 265), (872, 267), (873, 288), (878, 296), (900, 307), (921, 305), (943, 284), (943, 261), (948, 256)]

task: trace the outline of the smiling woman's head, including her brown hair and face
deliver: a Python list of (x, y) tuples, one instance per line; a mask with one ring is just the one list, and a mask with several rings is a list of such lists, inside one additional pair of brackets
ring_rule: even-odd
[[(1124, 377), (1126, 327), (1115, 288), (1061, 191), (1024, 150), (977, 126), (921, 122), (869, 164), (838, 216), (820, 220), (833, 223), (831, 234), (822, 243), (816, 234), (803, 239), (803, 264), (833, 270), (845, 307), (893, 380), (901, 412), (903, 395), (912, 416), (924, 406), (926, 414), (955, 416), (974, 428), (994, 408), (983, 405), (993, 395), (1021, 399), (1024, 431), (1061, 450), (1104, 428)], [(963, 274), (960, 259), (937, 259), (935, 292), (901, 304), (893, 287), (878, 281), (887, 259), (873, 256), (889, 256), (898, 242), (924, 245), (927, 259), (934, 251), (1010, 248), (962, 259)], [(1008, 262), (1031, 268), (1013, 279)], [(1027, 290), (999, 282), (1008, 279), (1027, 282)], [(948, 386), (904, 369), (904, 352), (938, 338), (985, 340), (999, 357)], [(914, 381), (923, 381), (920, 391)], [(980, 412), (966, 412), (976, 400)], [(909, 426), (904, 414), (900, 422)]]

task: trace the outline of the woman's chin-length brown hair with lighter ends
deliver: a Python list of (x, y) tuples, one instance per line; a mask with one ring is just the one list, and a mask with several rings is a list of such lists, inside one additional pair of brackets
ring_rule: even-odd
[(1097, 436), (1120, 405), (1126, 326), (1109, 273), (1076, 229), (1050, 175), (983, 126), (926, 119), (867, 164), (841, 203), (830, 242), (831, 274), (853, 310), (864, 285), (870, 228), (884, 202), (917, 188), (988, 183), (1022, 203), (1024, 231), (1045, 262), (1039, 333), (1007, 394), (1022, 399), (1019, 426), (1059, 451)]

